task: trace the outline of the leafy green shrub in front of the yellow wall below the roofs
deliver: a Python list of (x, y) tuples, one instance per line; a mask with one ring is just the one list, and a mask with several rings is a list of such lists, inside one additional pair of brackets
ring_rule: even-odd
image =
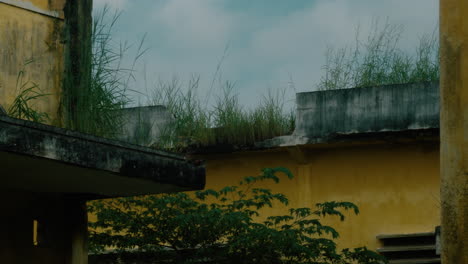
[(343, 210), (357, 214), (352, 203), (325, 202), (262, 218), (262, 208), (288, 205), (285, 195), (262, 187), (278, 183), (278, 173), (293, 177), (285, 168), (268, 168), (218, 191), (95, 201), (89, 207), (97, 216), (90, 223), (91, 249), (144, 253), (161, 263), (385, 263), (366, 248), (338, 250), (338, 232), (320, 222), (325, 216), (343, 221)]

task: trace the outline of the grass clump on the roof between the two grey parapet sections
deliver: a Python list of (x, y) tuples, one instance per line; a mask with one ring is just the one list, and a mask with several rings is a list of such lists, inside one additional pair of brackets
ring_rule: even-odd
[(151, 104), (167, 106), (174, 120), (162, 128), (157, 147), (183, 151), (214, 145), (251, 146), (294, 130), (294, 115), (284, 110), (282, 93), (270, 91), (260, 104), (247, 109), (234, 93), (234, 83), (224, 82), (210, 106), (197, 93), (199, 81), (199, 76), (192, 77), (185, 89), (178, 78), (158, 82)]

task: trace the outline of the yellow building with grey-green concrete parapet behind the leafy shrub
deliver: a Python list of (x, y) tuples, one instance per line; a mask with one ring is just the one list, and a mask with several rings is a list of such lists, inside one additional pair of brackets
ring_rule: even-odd
[[(206, 164), (206, 187), (220, 189), (262, 168), (286, 167), (295, 177), (268, 187), (285, 194), (290, 207), (350, 201), (360, 208), (344, 222), (324, 219), (340, 233), (340, 246), (440, 263), (438, 83), (299, 93), (296, 107), (292, 135), (247, 148), (195, 149), (191, 155)], [(133, 115), (129, 119), (146, 119), (154, 135), (171, 118), (165, 111), (125, 112)], [(127, 124), (129, 132), (138, 130)], [(262, 210), (282, 215), (285, 208)]]

